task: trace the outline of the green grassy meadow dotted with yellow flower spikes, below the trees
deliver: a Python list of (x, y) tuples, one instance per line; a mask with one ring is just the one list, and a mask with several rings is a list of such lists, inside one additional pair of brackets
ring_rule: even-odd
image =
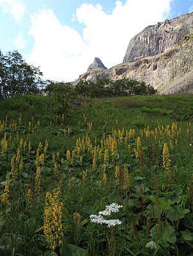
[(1, 100), (0, 255), (192, 255), (192, 100)]

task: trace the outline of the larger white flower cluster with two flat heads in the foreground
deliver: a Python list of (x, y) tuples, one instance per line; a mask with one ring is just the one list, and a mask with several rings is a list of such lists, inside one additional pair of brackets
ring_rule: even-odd
[(104, 219), (104, 216), (111, 215), (112, 212), (118, 212), (119, 208), (123, 207), (122, 205), (118, 205), (115, 202), (113, 204), (107, 205), (106, 209), (102, 212), (99, 212), (98, 215), (90, 215), (91, 222), (107, 224), (108, 228), (115, 225), (120, 225), (122, 222), (119, 219)]

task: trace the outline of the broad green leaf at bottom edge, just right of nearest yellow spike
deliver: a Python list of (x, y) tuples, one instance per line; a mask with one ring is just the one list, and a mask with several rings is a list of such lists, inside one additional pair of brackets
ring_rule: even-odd
[(74, 244), (64, 244), (60, 248), (60, 256), (86, 256), (87, 251)]

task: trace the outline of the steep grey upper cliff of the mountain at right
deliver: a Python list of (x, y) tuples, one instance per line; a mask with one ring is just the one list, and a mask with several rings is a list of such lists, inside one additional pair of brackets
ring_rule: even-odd
[(147, 26), (129, 42), (124, 63), (154, 56), (176, 46), (185, 35), (193, 33), (193, 12)]

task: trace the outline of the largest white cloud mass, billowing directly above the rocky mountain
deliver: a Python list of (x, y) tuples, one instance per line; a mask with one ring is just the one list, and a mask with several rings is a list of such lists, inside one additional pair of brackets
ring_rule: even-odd
[(82, 4), (73, 21), (84, 25), (82, 37), (62, 26), (52, 10), (32, 15), (29, 34), (35, 44), (29, 61), (41, 66), (46, 79), (73, 81), (86, 72), (94, 57), (105, 66), (121, 63), (129, 40), (145, 26), (163, 21), (172, 0), (117, 0), (111, 14), (102, 6)]

